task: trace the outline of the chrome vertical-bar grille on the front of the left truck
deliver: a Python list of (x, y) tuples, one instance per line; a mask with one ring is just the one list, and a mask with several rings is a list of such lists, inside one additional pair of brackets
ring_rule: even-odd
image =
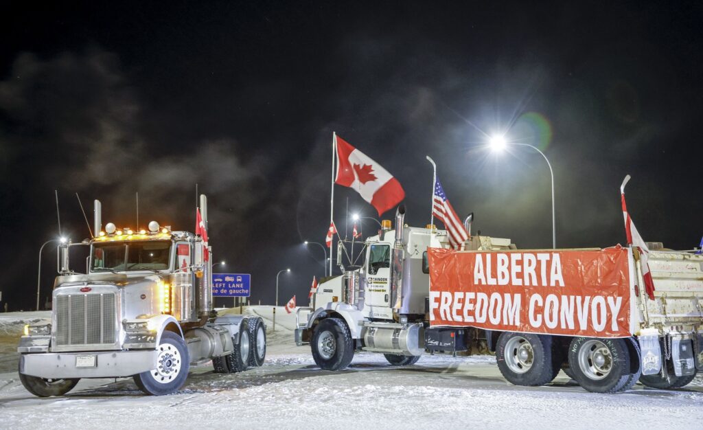
[(57, 346), (115, 343), (115, 293), (56, 296), (55, 336)]

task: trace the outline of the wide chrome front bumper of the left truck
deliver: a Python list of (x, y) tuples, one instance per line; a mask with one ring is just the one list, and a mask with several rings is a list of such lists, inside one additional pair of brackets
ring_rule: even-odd
[[(95, 367), (76, 367), (79, 355), (96, 355)], [(20, 373), (46, 379), (131, 377), (153, 369), (156, 355), (156, 350), (22, 354)]]

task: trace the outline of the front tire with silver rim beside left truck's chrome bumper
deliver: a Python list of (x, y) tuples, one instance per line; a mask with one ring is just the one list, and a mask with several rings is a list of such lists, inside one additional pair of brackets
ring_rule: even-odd
[(154, 368), (134, 375), (134, 383), (150, 396), (164, 396), (186, 383), (191, 360), (186, 342), (173, 331), (163, 332), (156, 350)]

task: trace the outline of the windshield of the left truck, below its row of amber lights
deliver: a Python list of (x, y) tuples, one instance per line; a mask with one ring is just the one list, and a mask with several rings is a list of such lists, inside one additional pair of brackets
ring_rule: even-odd
[(165, 270), (170, 251), (170, 241), (93, 244), (91, 272)]

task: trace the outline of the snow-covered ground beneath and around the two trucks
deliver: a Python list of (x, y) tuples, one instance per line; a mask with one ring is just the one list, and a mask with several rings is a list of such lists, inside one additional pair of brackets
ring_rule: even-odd
[[(271, 307), (247, 312), (262, 315), (271, 328)], [(48, 318), (48, 312), (0, 314), (0, 360), (15, 360), (16, 368), (11, 349), (22, 324)], [(196, 367), (172, 396), (143, 396), (131, 379), (95, 379), (80, 381), (65, 397), (41, 399), (25, 391), (16, 372), (0, 373), (0, 429), (696, 429), (703, 422), (701, 377), (676, 391), (637, 385), (628, 393), (600, 395), (569, 384), (564, 374), (549, 386), (512, 386), (491, 357), (427, 355), (401, 368), (371, 353), (356, 355), (344, 372), (325, 372), (309, 347), (293, 343), (294, 325), (292, 315), (278, 308), (263, 367), (225, 375), (212, 373), (209, 365)]]

